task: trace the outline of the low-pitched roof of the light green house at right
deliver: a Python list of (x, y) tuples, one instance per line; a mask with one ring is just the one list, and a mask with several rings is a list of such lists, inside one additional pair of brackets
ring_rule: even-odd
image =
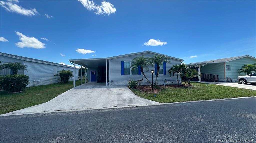
[(217, 59), (217, 60), (210, 60), (210, 61), (204, 61), (204, 62), (197, 62), (197, 63), (190, 63), (190, 64), (186, 64), (186, 65), (195, 65), (195, 64), (211, 64), (211, 63), (226, 63), (226, 62), (230, 62), (230, 61), (234, 61), (234, 60), (238, 60), (241, 58), (245, 58), (245, 57), (249, 57), (252, 59), (256, 59), (253, 56), (250, 55), (244, 55), (244, 56), (236, 56), (236, 57), (231, 57), (231, 58), (224, 58), (224, 59)]

